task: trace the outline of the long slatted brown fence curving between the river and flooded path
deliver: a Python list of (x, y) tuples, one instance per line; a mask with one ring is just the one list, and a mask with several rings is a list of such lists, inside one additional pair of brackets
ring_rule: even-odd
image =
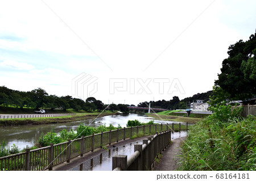
[(110, 145), (113, 142), (161, 131), (187, 131), (188, 128), (188, 123), (154, 124), (82, 136), (76, 140), (68, 140), (55, 145), (50, 144), (35, 150), (26, 149), (22, 153), (1, 157), (0, 170), (52, 170), (53, 166), (70, 162), (72, 158), (82, 157), (84, 153), (102, 148), (104, 145)]

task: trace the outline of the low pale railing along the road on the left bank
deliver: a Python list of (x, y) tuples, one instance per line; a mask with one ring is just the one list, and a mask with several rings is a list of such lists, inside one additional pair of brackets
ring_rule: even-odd
[(60, 117), (76, 115), (76, 113), (47, 113), (47, 114), (26, 114), (26, 115), (0, 115), (0, 119), (34, 118), (34, 117)]

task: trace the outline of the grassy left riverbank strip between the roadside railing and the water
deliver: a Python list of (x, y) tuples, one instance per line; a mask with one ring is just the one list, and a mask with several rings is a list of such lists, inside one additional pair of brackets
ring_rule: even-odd
[(76, 115), (60, 116), (60, 117), (34, 117), (34, 118), (19, 118), (19, 119), (1, 119), (0, 127), (27, 125), (27, 124), (56, 124), (81, 121), (85, 119), (94, 119), (109, 115), (119, 115), (118, 112), (93, 112), (93, 113), (78, 113)]

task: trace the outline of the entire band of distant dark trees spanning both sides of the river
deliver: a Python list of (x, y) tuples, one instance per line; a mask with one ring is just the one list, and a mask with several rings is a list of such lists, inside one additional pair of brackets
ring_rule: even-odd
[[(138, 107), (148, 107), (151, 103), (151, 107), (163, 108), (168, 110), (186, 109), (190, 107), (190, 103), (197, 99), (207, 102), (212, 91), (198, 93), (191, 97), (180, 100), (178, 96), (174, 96), (171, 100), (158, 100), (150, 102), (142, 102), (138, 104)], [(56, 96), (49, 95), (45, 90), (38, 88), (32, 91), (18, 91), (12, 90), (5, 86), (0, 86), (0, 106), (11, 106), (16, 108), (47, 108), (55, 110), (59, 108), (61, 110), (67, 110), (72, 108), (74, 110), (84, 110), (86, 112), (92, 112), (94, 110), (102, 111), (108, 105), (102, 103), (101, 100), (90, 97), (85, 101), (82, 99), (73, 98), (72, 96)], [(127, 106), (135, 106), (134, 104), (110, 104), (108, 110), (121, 112), (129, 112)]]

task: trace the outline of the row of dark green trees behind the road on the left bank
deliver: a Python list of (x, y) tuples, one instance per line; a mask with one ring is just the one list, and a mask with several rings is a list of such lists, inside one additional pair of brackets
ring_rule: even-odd
[[(51, 110), (59, 108), (64, 111), (72, 108), (74, 110), (93, 112), (95, 110), (102, 111), (108, 105), (93, 97), (89, 97), (84, 101), (82, 99), (73, 98), (70, 95), (49, 95), (45, 90), (41, 88), (24, 92), (12, 90), (5, 86), (0, 86), (0, 106), (34, 109), (48, 108)], [(124, 104), (110, 104), (108, 109), (112, 111), (119, 110), (128, 112), (128, 108)]]

